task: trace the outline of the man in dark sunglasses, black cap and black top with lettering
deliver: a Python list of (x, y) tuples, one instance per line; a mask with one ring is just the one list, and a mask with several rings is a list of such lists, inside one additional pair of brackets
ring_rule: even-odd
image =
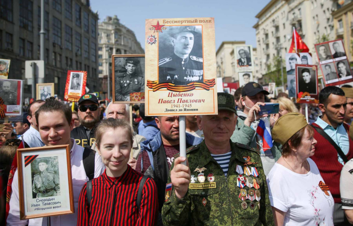
[(80, 126), (71, 131), (71, 138), (82, 147), (91, 147), (95, 142), (94, 131), (100, 122), (100, 108), (98, 98), (92, 94), (85, 94), (79, 99)]

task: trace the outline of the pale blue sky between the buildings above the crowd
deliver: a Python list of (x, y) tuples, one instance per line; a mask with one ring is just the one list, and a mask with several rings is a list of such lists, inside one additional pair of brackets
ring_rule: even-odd
[(91, 0), (91, 9), (98, 11), (99, 22), (106, 16), (120, 19), (120, 23), (135, 32), (145, 48), (145, 19), (214, 17), (216, 50), (223, 41), (246, 41), (256, 47), (253, 26), (255, 16), (270, 0)]

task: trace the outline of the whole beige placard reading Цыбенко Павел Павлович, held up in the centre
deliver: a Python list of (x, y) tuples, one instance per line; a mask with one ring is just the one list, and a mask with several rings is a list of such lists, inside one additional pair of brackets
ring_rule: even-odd
[(214, 18), (146, 20), (147, 116), (217, 114)]

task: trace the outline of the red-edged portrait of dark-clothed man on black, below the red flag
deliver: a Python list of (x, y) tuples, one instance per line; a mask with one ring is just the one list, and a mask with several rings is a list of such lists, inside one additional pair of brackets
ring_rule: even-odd
[(318, 75), (316, 65), (297, 64), (297, 103), (318, 103)]

